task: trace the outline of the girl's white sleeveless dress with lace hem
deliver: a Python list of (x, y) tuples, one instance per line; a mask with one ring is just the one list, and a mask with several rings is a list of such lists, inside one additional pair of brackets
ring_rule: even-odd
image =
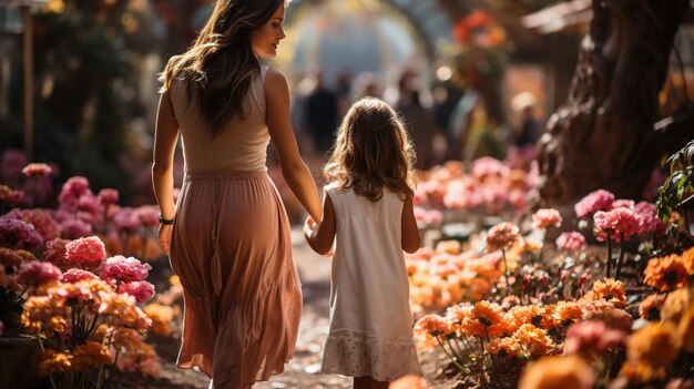
[(401, 248), (404, 201), (325, 187), (336, 215), (330, 334), (322, 372), (392, 381), (419, 373)]

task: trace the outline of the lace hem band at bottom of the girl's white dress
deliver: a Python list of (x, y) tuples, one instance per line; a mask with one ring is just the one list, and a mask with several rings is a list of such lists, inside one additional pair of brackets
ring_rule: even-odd
[(326, 341), (320, 372), (394, 381), (408, 373), (419, 375), (419, 362), (412, 340), (392, 341), (340, 331), (330, 334)]

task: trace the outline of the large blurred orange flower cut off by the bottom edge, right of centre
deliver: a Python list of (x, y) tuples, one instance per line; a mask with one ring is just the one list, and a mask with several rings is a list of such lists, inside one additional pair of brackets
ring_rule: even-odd
[(598, 375), (579, 356), (548, 357), (530, 364), (518, 383), (519, 389), (590, 389)]

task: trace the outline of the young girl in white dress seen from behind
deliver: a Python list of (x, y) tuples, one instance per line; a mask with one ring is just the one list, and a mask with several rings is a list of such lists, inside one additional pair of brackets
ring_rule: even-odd
[(387, 388), (418, 373), (402, 250), (419, 248), (412, 209), (412, 147), (395, 111), (378, 99), (355, 103), (324, 168), (324, 216), (304, 234), (333, 252), (330, 334), (324, 373), (355, 377), (355, 389)]

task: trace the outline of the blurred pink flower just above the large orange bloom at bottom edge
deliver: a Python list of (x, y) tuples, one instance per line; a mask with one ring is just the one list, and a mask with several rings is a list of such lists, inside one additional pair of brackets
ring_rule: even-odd
[(626, 332), (608, 327), (602, 320), (572, 324), (567, 330), (564, 354), (602, 355), (624, 344)]

